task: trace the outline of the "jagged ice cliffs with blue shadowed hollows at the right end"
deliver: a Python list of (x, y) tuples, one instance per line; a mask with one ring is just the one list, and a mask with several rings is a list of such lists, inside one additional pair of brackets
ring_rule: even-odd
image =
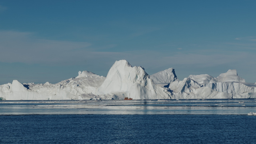
[(246, 83), (236, 70), (214, 78), (208, 74), (190, 75), (182, 81), (171, 82), (175, 98), (256, 98), (256, 84)]

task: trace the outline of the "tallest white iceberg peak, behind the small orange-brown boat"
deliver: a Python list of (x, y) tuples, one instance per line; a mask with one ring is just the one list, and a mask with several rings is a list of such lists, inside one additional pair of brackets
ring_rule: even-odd
[(156, 84), (141, 66), (132, 67), (126, 60), (119, 60), (110, 68), (98, 94), (115, 94), (118, 98), (170, 99), (171, 93)]

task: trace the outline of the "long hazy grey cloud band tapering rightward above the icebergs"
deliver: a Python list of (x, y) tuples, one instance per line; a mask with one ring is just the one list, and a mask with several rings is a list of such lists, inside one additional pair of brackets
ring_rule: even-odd
[[(197, 51), (190, 54), (186, 54), (186, 51), (175, 54), (172, 51), (158, 52), (152, 50), (100, 52), (94, 51), (91, 46), (93, 45), (89, 42), (37, 39), (30, 32), (0, 31), (0, 49), (2, 50), (0, 62), (76, 64), (90, 60), (112, 62), (113, 60), (127, 59), (134, 63), (140, 63), (142, 66), (148, 64), (160, 66), (161, 63), (163, 66), (168, 63), (170, 65), (215, 66), (243, 60), (248, 54), (250, 55), (250, 53), (241, 54), (241, 52), (211, 54), (207, 51), (200, 54)], [(182, 48), (177, 49), (182, 50)], [(151, 60), (152, 62), (150, 62)]]

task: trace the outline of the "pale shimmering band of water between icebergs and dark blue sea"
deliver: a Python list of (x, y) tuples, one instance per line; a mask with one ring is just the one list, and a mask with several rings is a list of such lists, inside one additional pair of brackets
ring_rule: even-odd
[(21, 114), (248, 114), (255, 99), (0, 101), (0, 115)]

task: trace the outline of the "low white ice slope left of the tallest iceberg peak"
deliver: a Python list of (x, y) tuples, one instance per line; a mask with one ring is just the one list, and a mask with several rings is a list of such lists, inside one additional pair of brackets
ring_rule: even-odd
[(6, 100), (71, 100), (71, 99), (108, 99), (97, 96), (97, 88), (105, 77), (92, 72), (78, 72), (76, 78), (63, 80), (57, 84), (21, 84), (13, 80), (12, 84), (0, 86), (0, 97)]

